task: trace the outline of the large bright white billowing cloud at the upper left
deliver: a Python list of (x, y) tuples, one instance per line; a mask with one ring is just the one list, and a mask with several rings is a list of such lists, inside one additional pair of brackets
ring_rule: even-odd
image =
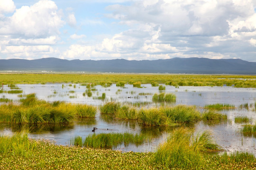
[(22, 6), (0, 24), (0, 34), (40, 38), (59, 34), (64, 21), (57, 9), (51, 0), (40, 0), (30, 7)]

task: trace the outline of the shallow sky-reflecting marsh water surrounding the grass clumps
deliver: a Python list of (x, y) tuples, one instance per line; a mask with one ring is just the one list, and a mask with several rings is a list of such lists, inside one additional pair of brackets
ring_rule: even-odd
[[(256, 154), (256, 138), (245, 137), (241, 135), (240, 129), (243, 124), (235, 124), (234, 119), (236, 116), (247, 116), (251, 119), (250, 123), (254, 124), (256, 121), (256, 111), (254, 103), (256, 102), (256, 89), (255, 88), (234, 88), (229, 86), (223, 87), (194, 87), (194, 86), (180, 86), (175, 88), (174, 86), (166, 85), (165, 91), (158, 91), (158, 87), (151, 87), (151, 85), (142, 85), (143, 88), (133, 87), (132, 85), (125, 85), (125, 88), (116, 87), (111, 85), (110, 87), (102, 87), (100, 85), (95, 86), (97, 91), (92, 91), (92, 97), (83, 96), (86, 86), (75, 84), (46, 84), (46, 85), (17, 85), (23, 90), (23, 94), (36, 93), (37, 98), (46, 100), (48, 102), (53, 101), (65, 101), (73, 103), (85, 103), (92, 105), (101, 105), (104, 102), (118, 101), (123, 103), (135, 103), (135, 102), (148, 102), (149, 105), (143, 107), (152, 107), (159, 105), (159, 103), (152, 102), (152, 96), (154, 93), (174, 93), (177, 98), (176, 102), (168, 103), (165, 105), (196, 105), (203, 107), (206, 104), (214, 103), (228, 103), (233, 104), (237, 109), (222, 111), (226, 113), (229, 121), (227, 123), (220, 123), (217, 125), (204, 124), (199, 122), (195, 125), (196, 133), (204, 130), (210, 130), (217, 144), (221, 145), (226, 151), (248, 151)], [(4, 86), (3, 90), (9, 90), (7, 86)], [(119, 91), (118, 91), (119, 90)], [(70, 93), (74, 91), (74, 93)], [(95, 99), (101, 96), (102, 93), (106, 93), (106, 100)], [(139, 95), (139, 93), (147, 93), (145, 95)], [(18, 101), (18, 94), (0, 93), (0, 97), (13, 99)], [(70, 96), (73, 96), (70, 98)], [(128, 98), (132, 97), (132, 98)], [(239, 109), (239, 105), (248, 103), (252, 104), (249, 110)], [(27, 126), (27, 125), (26, 125)], [(11, 134), (15, 131), (19, 131), (23, 127), (10, 127), (2, 126), (0, 129), (1, 134)], [(163, 127), (142, 127), (136, 121), (117, 121), (112, 119), (103, 119), (98, 113), (95, 119), (86, 119), (81, 122), (75, 122), (69, 126), (38, 126), (29, 127), (31, 132), (30, 137), (44, 138), (54, 140), (56, 144), (70, 144), (70, 140), (75, 136), (82, 136), (83, 138), (89, 134), (93, 134), (91, 130), (93, 127), (98, 129), (95, 133), (144, 133), (152, 136), (152, 141), (141, 146), (129, 145), (125, 147), (120, 145), (115, 149), (122, 151), (134, 151), (134, 152), (150, 152), (155, 151), (158, 144), (165, 141), (168, 136), (168, 131)], [(109, 130), (107, 130), (109, 129)]]

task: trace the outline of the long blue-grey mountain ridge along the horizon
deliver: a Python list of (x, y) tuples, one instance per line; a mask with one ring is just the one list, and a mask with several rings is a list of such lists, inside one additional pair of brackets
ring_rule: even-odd
[(173, 58), (158, 60), (0, 59), (0, 70), (256, 74), (256, 62), (248, 62), (242, 59), (207, 58)]

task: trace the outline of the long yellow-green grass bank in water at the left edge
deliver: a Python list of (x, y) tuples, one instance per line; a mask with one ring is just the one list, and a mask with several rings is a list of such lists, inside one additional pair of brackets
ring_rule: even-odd
[(0, 122), (5, 123), (69, 123), (74, 118), (95, 117), (96, 107), (64, 102), (38, 100), (35, 94), (20, 99), (20, 104), (0, 105)]

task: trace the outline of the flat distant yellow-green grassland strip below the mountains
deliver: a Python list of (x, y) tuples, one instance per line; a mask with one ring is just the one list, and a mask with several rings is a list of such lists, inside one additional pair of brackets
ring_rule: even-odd
[(0, 83), (46, 84), (77, 83), (108, 86), (124, 84), (166, 84), (173, 86), (234, 86), (256, 87), (256, 76), (243, 75), (157, 75), (157, 74), (0, 74)]

